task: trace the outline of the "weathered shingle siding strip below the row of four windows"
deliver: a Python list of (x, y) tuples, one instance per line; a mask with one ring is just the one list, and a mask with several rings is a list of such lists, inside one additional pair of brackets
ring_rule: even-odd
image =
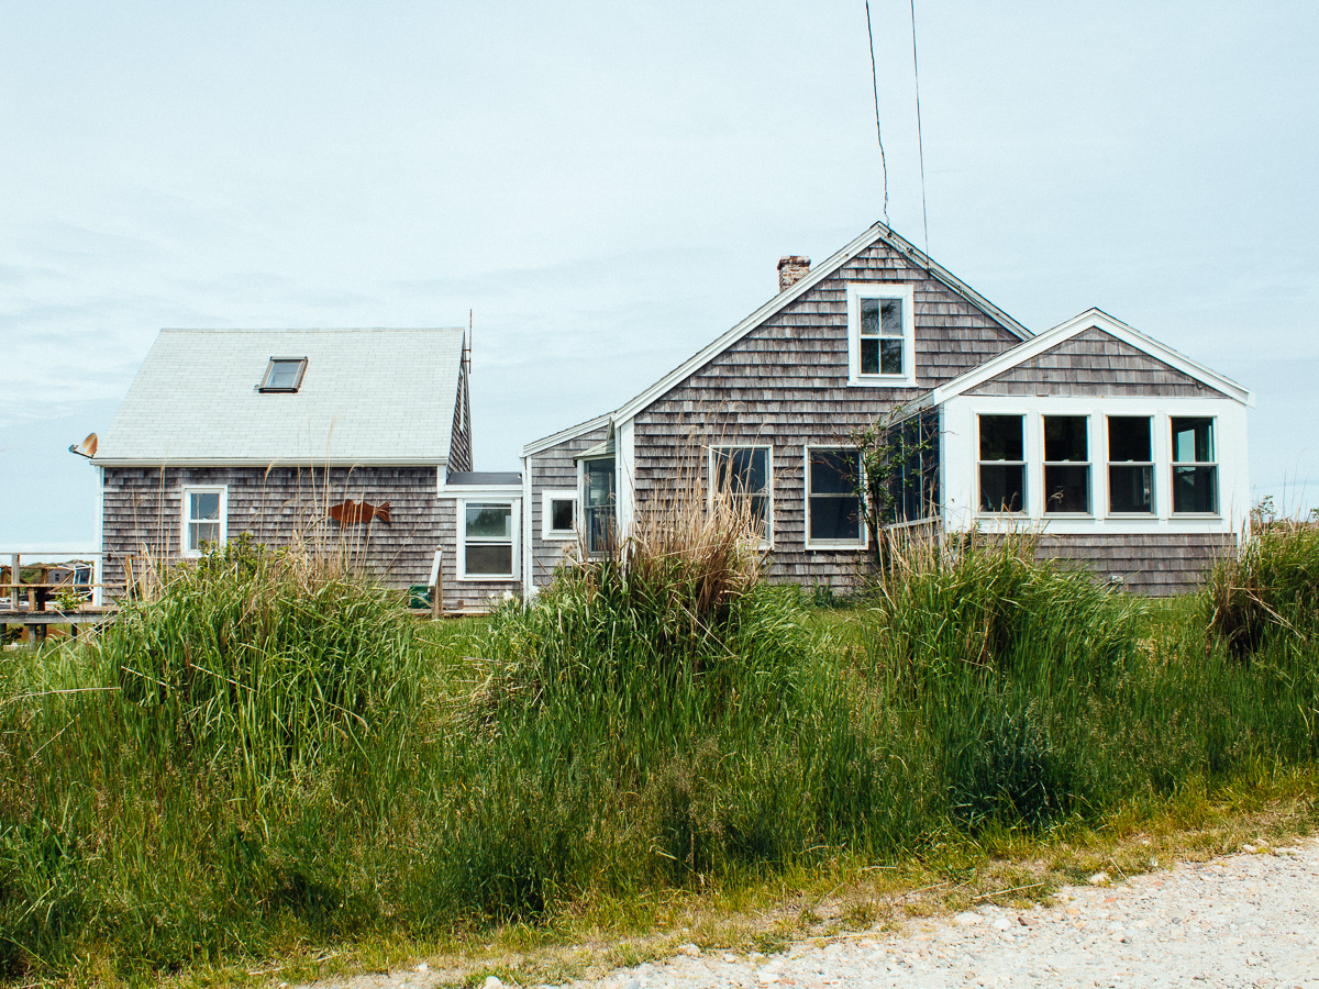
[(1037, 543), (1035, 558), (1076, 560), (1100, 583), (1117, 576), (1124, 591), (1161, 597), (1194, 591), (1204, 572), (1233, 550), (1236, 542), (1236, 535), (1224, 533), (1045, 533)]

